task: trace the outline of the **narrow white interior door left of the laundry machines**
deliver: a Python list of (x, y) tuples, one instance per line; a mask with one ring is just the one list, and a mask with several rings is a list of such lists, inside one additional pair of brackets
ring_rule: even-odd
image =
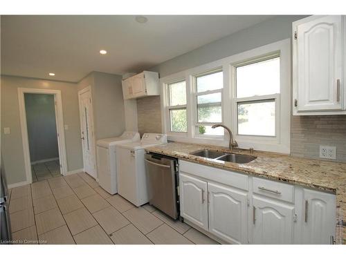
[(80, 101), (80, 128), (82, 133), (82, 148), (84, 171), (97, 178), (95, 170), (95, 139), (93, 134), (93, 106), (91, 103), (91, 90), (81, 90)]

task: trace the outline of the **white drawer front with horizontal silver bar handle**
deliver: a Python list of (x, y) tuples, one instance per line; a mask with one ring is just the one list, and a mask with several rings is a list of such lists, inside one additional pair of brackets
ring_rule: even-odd
[(253, 178), (253, 193), (293, 202), (294, 186), (262, 178)]

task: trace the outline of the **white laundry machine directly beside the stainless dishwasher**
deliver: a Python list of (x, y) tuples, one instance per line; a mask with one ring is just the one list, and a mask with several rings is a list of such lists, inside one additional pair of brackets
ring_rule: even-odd
[(149, 202), (145, 173), (145, 148), (167, 143), (167, 135), (144, 133), (140, 142), (116, 146), (118, 193), (137, 207)]

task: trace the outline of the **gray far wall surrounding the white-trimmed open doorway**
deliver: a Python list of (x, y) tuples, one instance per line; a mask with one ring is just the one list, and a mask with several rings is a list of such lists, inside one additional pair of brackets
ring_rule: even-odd
[[(77, 84), (1, 75), (1, 154), (8, 184), (26, 180), (17, 93), (19, 87), (62, 91), (64, 124), (69, 125), (65, 131), (67, 168), (69, 171), (81, 169), (83, 162)], [(10, 127), (11, 133), (4, 135), (4, 127)]]

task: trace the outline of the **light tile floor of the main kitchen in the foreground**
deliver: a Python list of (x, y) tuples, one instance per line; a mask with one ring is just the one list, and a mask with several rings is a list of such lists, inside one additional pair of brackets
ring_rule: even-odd
[(10, 190), (10, 217), (24, 244), (217, 244), (149, 204), (110, 195), (86, 173)]

